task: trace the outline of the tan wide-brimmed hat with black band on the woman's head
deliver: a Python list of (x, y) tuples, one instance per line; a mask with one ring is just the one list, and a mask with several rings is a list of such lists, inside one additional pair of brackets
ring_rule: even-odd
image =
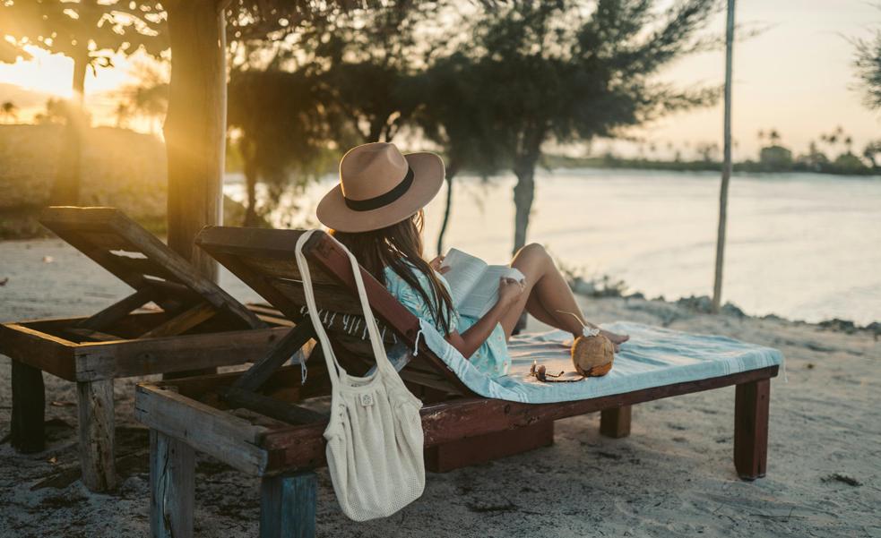
[(434, 153), (403, 155), (394, 144), (350, 149), (340, 161), (340, 184), (324, 195), (318, 220), (341, 232), (391, 226), (424, 208), (444, 183), (444, 161)]

